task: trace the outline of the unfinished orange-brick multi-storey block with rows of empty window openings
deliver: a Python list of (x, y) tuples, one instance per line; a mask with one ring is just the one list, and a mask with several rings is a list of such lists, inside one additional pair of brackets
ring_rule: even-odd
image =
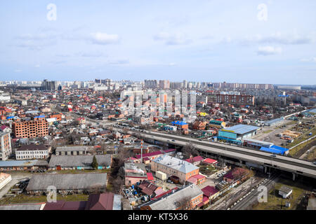
[(35, 138), (48, 135), (48, 123), (45, 119), (13, 123), (15, 138)]

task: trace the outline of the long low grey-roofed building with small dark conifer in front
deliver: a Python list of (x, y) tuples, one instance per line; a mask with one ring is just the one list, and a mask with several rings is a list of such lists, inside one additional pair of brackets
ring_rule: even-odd
[[(52, 155), (48, 169), (93, 169), (94, 155)], [(109, 169), (112, 165), (112, 155), (96, 155), (98, 169)]]

